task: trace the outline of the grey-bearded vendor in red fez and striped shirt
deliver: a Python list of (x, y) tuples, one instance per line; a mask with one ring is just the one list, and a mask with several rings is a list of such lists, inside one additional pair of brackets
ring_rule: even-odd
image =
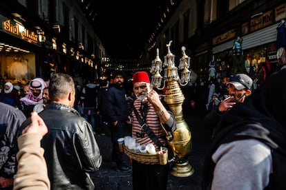
[[(166, 110), (160, 100), (160, 96), (154, 89), (151, 89), (149, 76), (146, 72), (133, 74), (133, 92), (137, 99), (133, 103), (133, 126), (132, 137), (140, 145), (152, 143), (156, 148), (166, 145), (167, 131), (175, 130), (175, 117), (172, 112)], [(150, 131), (153, 131), (153, 138), (150, 132), (142, 127), (135, 114), (137, 112)], [(151, 162), (133, 160), (133, 189), (166, 189), (169, 175), (169, 164), (160, 165)]]

